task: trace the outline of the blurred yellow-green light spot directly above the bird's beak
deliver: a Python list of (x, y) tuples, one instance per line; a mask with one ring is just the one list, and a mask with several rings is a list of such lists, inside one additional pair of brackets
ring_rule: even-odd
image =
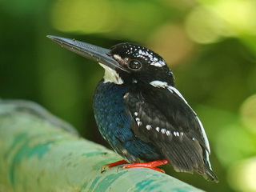
[(82, 34), (106, 32), (113, 11), (106, 0), (58, 0), (52, 9), (52, 24), (57, 30)]

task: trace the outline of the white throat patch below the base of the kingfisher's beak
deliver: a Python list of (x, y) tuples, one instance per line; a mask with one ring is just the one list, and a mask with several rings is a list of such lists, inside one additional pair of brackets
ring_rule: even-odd
[(112, 70), (110, 67), (105, 66), (102, 63), (99, 63), (99, 65), (102, 66), (105, 70), (104, 83), (113, 82), (114, 84), (118, 85), (123, 84), (122, 78), (120, 78), (119, 74), (115, 70)]

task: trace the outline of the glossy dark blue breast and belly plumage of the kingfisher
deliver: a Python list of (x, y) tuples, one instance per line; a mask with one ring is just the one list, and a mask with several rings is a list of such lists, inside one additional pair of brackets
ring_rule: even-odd
[(102, 137), (128, 162), (161, 159), (158, 150), (142, 142), (130, 129), (132, 118), (127, 113), (124, 95), (130, 86), (99, 82), (94, 93), (94, 115)]

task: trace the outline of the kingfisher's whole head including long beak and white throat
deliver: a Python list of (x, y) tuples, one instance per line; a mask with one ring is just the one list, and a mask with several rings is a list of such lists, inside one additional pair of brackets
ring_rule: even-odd
[(76, 54), (99, 62), (105, 69), (105, 82), (141, 85), (156, 81), (155, 86), (161, 83), (174, 86), (174, 76), (166, 62), (146, 47), (125, 42), (109, 50), (70, 38), (47, 37)]

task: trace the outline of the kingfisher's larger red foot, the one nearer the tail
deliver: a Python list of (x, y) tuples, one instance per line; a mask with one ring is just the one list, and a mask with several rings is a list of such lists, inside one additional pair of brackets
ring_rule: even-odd
[(125, 168), (134, 168), (134, 167), (146, 167), (146, 168), (150, 168), (152, 170), (158, 170), (162, 173), (165, 173), (164, 170), (156, 167), (156, 166), (162, 166), (167, 164), (168, 161), (167, 160), (156, 160), (153, 162), (140, 162), (140, 163), (132, 163), (132, 164), (126, 164), (126, 166), (124, 166)]

